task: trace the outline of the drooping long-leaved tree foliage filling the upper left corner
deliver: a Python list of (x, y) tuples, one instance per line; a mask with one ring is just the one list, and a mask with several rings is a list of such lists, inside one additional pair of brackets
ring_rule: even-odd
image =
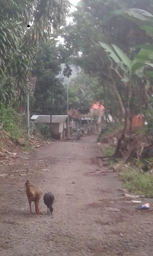
[[(0, 1), (0, 84), (8, 75), (16, 76), (20, 104), (28, 91), (38, 43), (64, 22), (68, 0)], [(33, 22), (27, 30), (27, 24)]]

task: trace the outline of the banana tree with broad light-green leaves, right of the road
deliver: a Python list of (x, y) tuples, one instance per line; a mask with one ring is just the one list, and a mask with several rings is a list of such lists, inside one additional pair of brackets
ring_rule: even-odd
[[(149, 37), (148, 42), (152, 42), (153, 36), (153, 15), (140, 9), (130, 9), (124, 13), (126, 18), (136, 23), (142, 30), (146, 31), (146, 36)], [(99, 45), (105, 50), (109, 59), (109, 69), (112, 83), (118, 76), (118, 81), (122, 88), (118, 86), (112, 87), (119, 102), (124, 105), (124, 130), (118, 141), (115, 156), (125, 155), (126, 161), (133, 156), (137, 151), (131, 147), (131, 136), (125, 140), (127, 135), (131, 135), (132, 131), (132, 116), (135, 114), (135, 106), (139, 106), (139, 113), (147, 107), (149, 96), (153, 94), (153, 86), (150, 86), (150, 81), (153, 77), (153, 44), (139, 45), (131, 47), (130, 57), (118, 48), (118, 46), (99, 42)], [(103, 70), (102, 70), (103, 72)], [(147, 88), (149, 86), (149, 88)], [(120, 90), (118, 90), (120, 88)], [(148, 89), (148, 90), (147, 90)], [(118, 97), (119, 96), (119, 97)], [(138, 100), (139, 99), (139, 100)], [(138, 104), (137, 104), (138, 102)], [(120, 104), (121, 105), (121, 104)], [(123, 143), (122, 143), (123, 142)], [(123, 145), (125, 145), (123, 148)], [(138, 156), (139, 157), (139, 156)]]

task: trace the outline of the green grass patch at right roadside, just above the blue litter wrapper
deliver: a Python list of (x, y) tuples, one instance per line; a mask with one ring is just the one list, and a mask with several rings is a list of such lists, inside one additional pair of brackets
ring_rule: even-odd
[(120, 179), (124, 182), (124, 187), (130, 192), (153, 198), (153, 175), (130, 167), (120, 173)]

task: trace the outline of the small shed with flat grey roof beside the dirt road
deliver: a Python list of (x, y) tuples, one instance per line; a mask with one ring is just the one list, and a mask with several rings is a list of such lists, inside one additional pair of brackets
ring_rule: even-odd
[(63, 139), (63, 131), (66, 128), (67, 116), (45, 116), (45, 115), (33, 115), (31, 120), (34, 123), (51, 124), (53, 130), (53, 137), (60, 140)]

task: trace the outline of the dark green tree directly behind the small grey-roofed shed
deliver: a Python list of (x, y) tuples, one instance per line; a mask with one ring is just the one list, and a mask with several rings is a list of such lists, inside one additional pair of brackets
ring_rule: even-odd
[(61, 72), (61, 63), (65, 60), (66, 52), (60, 52), (61, 45), (55, 40), (49, 40), (39, 46), (37, 64), (33, 74), (37, 76), (35, 86), (35, 102), (32, 111), (39, 114), (65, 114), (66, 89), (57, 75)]

